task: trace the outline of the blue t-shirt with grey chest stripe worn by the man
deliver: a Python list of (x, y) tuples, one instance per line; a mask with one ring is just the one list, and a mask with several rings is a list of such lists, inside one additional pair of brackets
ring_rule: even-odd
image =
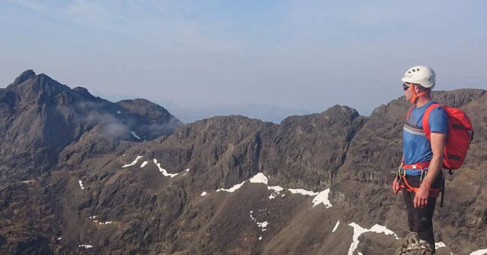
[[(405, 164), (426, 162), (433, 158), (431, 144), (423, 131), (423, 115), (426, 109), (434, 103), (436, 102), (430, 101), (422, 107), (414, 107), (404, 124), (402, 148)], [(428, 123), (431, 132), (446, 134), (448, 131), (448, 116), (441, 107), (436, 107), (431, 111)], [(406, 169), (408, 176), (417, 176), (420, 173), (420, 169)]]

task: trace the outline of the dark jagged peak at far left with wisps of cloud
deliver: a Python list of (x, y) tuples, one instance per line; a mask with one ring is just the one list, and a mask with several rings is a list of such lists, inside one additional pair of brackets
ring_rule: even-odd
[[(125, 105), (131, 105), (130, 100)], [(49, 171), (65, 146), (100, 123), (107, 137), (130, 141), (170, 134), (182, 124), (162, 107), (146, 102), (138, 109), (144, 107), (150, 107), (152, 116), (95, 98), (86, 88), (70, 89), (47, 75), (23, 72), (0, 91), (0, 180)], [(160, 119), (154, 121), (153, 116)], [(132, 130), (141, 130), (141, 139)]]

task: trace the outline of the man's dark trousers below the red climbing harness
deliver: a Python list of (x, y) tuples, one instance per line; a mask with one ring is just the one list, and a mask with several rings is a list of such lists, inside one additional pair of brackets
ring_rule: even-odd
[[(420, 187), (420, 176), (406, 176), (409, 185)], [(432, 188), (442, 186), (442, 173), (439, 173), (436, 180), (431, 185)], [(435, 252), (435, 235), (433, 234), (433, 212), (435, 211), (436, 198), (429, 197), (428, 205), (423, 208), (414, 207), (415, 192), (403, 190), (404, 202), (408, 212), (409, 230), (416, 232), (421, 240), (429, 243), (433, 253)]]

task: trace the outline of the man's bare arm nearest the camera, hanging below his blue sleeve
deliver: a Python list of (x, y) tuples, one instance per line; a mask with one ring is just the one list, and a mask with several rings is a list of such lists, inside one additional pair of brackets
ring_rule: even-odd
[(431, 150), (433, 151), (433, 158), (429, 163), (428, 174), (426, 174), (426, 177), (420, 185), (420, 189), (415, 195), (415, 208), (422, 208), (428, 204), (429, 188), (435, 181), (438, 173), (440, 173), (443, 159), (445, 158), (446, 141), (447, 134), (431, 132)]

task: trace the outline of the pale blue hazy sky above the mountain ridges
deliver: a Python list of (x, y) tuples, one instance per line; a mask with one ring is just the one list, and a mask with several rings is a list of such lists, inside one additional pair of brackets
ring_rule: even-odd
[(108, 98), (370, 114), (412, 65), (487, 87), (487, 1), (0, 1), (0, 87), (44, 72)]

